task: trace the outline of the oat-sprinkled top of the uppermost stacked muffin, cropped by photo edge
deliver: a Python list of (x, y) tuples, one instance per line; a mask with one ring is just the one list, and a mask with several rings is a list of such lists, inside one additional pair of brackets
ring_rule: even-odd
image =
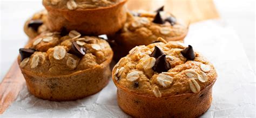
[(50, 5), (57, 9), (97, 9), (112, 6), (121, 0), (43, 0), (44, 5)]

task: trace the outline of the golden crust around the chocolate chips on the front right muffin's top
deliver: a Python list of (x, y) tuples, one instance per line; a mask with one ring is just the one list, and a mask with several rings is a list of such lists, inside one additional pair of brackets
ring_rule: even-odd
[[(170, 41), (168, 43), (152, 43), (148, 46), (138, 46), (133, 48), (129, 55), (120, 59), (112, 71), (112, 75), (116, 76), (116, 81), (119, 86), (130, 89), (134, 93), (143, 94), (154, 97), (153, 89), (158, 87), (162, 97), (177, 95), (183, 93), (193, 93), (190, 87), (190, 80), (196, 80), (196, 83), (203, 90), (205, 87), (214, 82), (217, 78), (217, 73), (213, 65), (208, 62), (204, 56), (195, 52), (196, 57), (193, 61), (187, 59), (180, 53), (185, 47), (184, 43)], [(153, 57), (149, 55), (158, 46), (168, 56), (167, 62), (170, 63), (171, 69), (167, 72), (158, 73), (152, 70), (149, 62)], [(149, 67), (151, 66), (151, 67)], [(207, 71), (203, 71), (201, 67), (207, 67)], [(149, 68), (148, 68), (149, 67)], [(129, 73), (133, 71), (140, 72), (136, 80), (129, 80)], [(167, 78), (158, 78), (161, 75), (166, 75)], [(169, 80), (165, 84), (165, 79)], [(205, 79), (205, 82), (202, 81)], [(118, 80), (118, 81), (117, 81)], [(138, 82), (139, 86), (134, 87), (134, 82)], [(169, 83), (169, 84), (168, 84)]]

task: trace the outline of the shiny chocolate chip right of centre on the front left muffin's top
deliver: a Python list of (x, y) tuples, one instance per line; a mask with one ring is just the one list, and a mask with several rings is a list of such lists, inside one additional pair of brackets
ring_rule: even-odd
[(76, 55), (78, 57), (83, 57), (86, 53), (86, 49), (84, 47), (80, 47), (76, 42), (72, 42), (71, 49), (69, 50), (70, 54)]

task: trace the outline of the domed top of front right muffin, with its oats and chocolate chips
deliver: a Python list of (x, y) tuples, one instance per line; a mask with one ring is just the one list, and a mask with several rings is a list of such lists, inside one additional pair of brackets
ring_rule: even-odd
[(112, 73), (117, 86), (157, 98), (197, 93), (217, 78), (213, 65), (192, 46), (164, 40), (134, 47)]

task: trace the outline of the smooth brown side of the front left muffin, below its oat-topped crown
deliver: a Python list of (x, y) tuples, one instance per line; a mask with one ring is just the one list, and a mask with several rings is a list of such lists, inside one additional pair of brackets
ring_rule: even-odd
[[(18, 62), (21, 58), (18, 57)], [(38, 76), (22, 69), (31, 94), (41, 99), (69, 101), (84, 98), (102, 90), (109, 82), (111, 58), (94, 68), (65, 76)]]

